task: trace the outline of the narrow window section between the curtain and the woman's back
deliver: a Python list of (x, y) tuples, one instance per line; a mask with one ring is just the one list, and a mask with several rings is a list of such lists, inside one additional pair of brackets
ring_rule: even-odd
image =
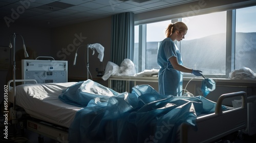
[(137, 65), (137, 72), (144, 69), (159, 69), (158, 44), (165, 38), (165, 28), (170, 22), (171, 20), (166, 20), (135, 26), (134, 64)]

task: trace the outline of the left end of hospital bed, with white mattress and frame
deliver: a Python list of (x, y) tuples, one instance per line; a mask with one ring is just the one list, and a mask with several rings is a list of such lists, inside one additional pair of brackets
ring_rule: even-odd
[[(32, 83), (34, 81), (17, 80), (17, 82)], [(29, 115), (26, 117), (26, 123), (24, 124), (28, 130), (55, 140), (68, 140), (68, 128), (76, 111), (80, 110), (81, 107), (64, 103), (58, 99), (58, 96), (63, 89), (74, 83), (22, 84), (16, 86), (15, 103), (17, 114), (19, 114), (17, 115), (17, 117), (19, 116), (18, 120), (22, 118), (19, 111), (24, 110), (26, 113), (23, 116)], [(12, 89), (9, 91), (9, 95), (11, 94)], [(9, 96), (8, 100), (12, 103), (13, 97)], [(23, 120), (24, 118), (21, 121)]]

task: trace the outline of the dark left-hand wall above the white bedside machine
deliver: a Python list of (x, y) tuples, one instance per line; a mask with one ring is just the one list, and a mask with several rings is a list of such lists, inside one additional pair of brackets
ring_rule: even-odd
[[(9, 35), (16, 33), (20, 34), (24, 38), (26, 47), (30, 47), (36, 51), (37, 56), (49, 56), (51, 53), (51, 30), (46, 28), (28, 27), (24, 25), (18, 25), (15, 22), (8, 28), (4, 23), (0, 24), (1, 34), (0, 34), (0, 45), (9, 46), (10, 39)], [(13, 38), (11, 37), (11, 42), (13, 43)], [(15, 51), (23, 49), (22, 38), (16, 36)], [(11, 54), (13, 49), (11, 49)], [(11, 57), (12, 61), (13, 58)], [(16, 59), (15, 59), (16, 60)], [(10, 67), (12, 71), (12, 66)], [(17, 68), (17, 67), (16, 67)], [(4, 85), (6, 85), (7, 70), (0, 70), (0, 84), (2, 89), (0, 90), (0, 102), (3, 100), (4, 96)]]

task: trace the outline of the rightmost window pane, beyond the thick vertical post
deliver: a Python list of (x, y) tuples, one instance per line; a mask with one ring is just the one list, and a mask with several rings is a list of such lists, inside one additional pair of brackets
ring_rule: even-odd
[(256, 6), (236, 10), (234, 68), (248, 67), (256, 73)]

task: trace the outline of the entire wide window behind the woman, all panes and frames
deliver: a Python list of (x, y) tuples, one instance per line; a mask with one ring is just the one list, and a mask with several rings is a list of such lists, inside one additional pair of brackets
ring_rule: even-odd
[[(247, 7), (135, 26), (136, 70), (160, 68), (157, 51), (159, 42), (165, 38), (165, 29), (170, 22), (183, 21), (188, 31), (185, 39), (176, 44), (184, 66), (200, 69), (211, 78), (228, 78), (231, 70), (243, 66), (256, 71), (253, 57), (256, 53), (256, 20), (251, 18), (254, 14), (256, 7)], [(236, 27), (230, 30), (229, 23)], [(232, 35), (234, 40), (229, 40), (227, 35)], [(189, 76), (193, 75), (184, 74), (184, 77)]]

